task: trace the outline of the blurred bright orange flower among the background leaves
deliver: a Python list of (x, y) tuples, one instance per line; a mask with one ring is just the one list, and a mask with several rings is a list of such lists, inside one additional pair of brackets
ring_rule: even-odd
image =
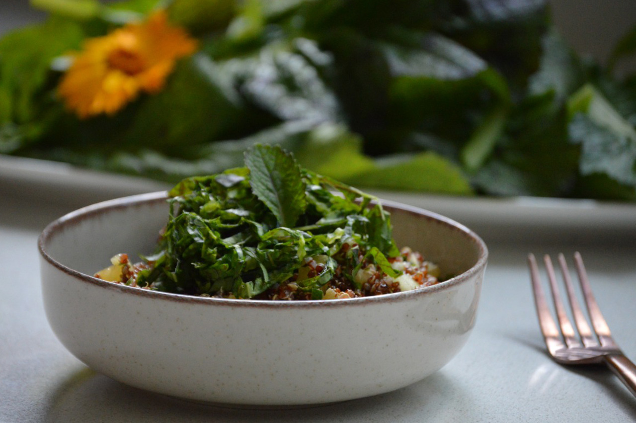
[(62, 78), (59, 94), (80, 118), (114, 114), (139, 92), (162, 89), (175, 61), (197, 41), (167, 22), (165, 11), (85, 41)]

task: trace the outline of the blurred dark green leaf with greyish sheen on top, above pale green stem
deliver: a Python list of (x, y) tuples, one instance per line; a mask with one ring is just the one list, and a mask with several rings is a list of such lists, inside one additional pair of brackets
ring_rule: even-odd
[(483, 130), (475, 135), (480, 126), (488, 125), (480, 121), (487, 120), (488, 110), (504, 109), (509, 102), (501, 75), (475, 53), (439, 34), (395, 32), (394, 39), (399, 43), (382, 45), (392, 74), (392, 124), (418, 128), (458, 147), (469, 139), (486, 139)]

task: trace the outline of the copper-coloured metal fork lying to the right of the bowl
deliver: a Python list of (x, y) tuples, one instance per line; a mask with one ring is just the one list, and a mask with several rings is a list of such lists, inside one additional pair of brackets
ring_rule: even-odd
[(586, 309), (588, 310), (593, 333), (583, 310), (579, 307), (574, 286), (570, 279), (570, 272), (563, 254), (558, 255), (558, 261), (578, 335), (574, 331), (574, 327), (572, 323), (570, 323), (568, 314), (561, 301), (559, 289), (556, 284), (555, 270), (550, 256), (544, 256), (544, 263), (546, 265), (546, 273), (548, 274), (550, 291), (552, 293), (560, 329), (556, 326), (550, 307), (546, 302), (543, 289), (541, 288), (541, 278), (539, 277), (537, 261), (533, 254), (529, 254), (528, 256), (532, 291), (534, 292), (534, 301), (537, 306), (537, 316), (539, 316), (539, 325), (541, 326), (541, 332), (543, 333), (543, 338), (546, 342), (546, 347), (548, 347), (548, 352), (550, 352), (550, 356), (552, 356), (557, 363), (561, 364), (605, 364), (620, 378), (621, 382), (628, 387), (630, 392), (636, 396), (636, 366), (623, 354), (612, 338), (607, 322), (605, 322), (591, 291), (581, 254), (574, 254), (574, 263), (576, 265), (576, 273), (579, 283), (581, 284), (581, 292)]

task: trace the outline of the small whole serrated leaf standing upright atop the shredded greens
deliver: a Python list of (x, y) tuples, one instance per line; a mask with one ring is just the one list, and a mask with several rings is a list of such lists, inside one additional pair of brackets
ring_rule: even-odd
[(293, 156), (279, 147), (257, 145), (245, 153), (245, 165), (256, 197), (281, 226), (293, 228), (307, 207), (305, 183)]

